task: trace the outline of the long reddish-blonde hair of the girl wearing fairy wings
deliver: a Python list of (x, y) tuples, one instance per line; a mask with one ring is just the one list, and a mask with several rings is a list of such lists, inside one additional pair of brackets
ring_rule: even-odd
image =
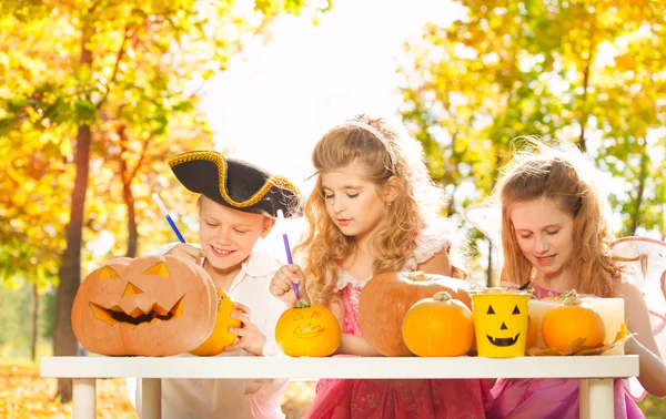
[(496, 186), (496, 198), (502, 203), (502, 246), (504, 268), (502, 277), (524, 284), (536, 273), (523, 255), (511, 222), (511, 206), (539, 198), (553, 200), (559, 209), (574, 218), (574, 248), (569, 260), (577, 290), (601, 297), (614, 295), (614, 279), (622, 274), (619, 262), (610, 252), (613, 236), (603, 214), (603, 197), (593, 181), (593, 168), (587, 167), (581, 153), (548, 147), (532, 140), (538, 154), (518, 153), (505, 167)]

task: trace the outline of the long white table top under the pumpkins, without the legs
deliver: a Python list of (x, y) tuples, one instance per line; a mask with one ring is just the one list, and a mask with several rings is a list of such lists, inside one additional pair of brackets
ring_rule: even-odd
[(626, 378), (638, 356), (417, 357), (43, 357), (40, 375), (60, 378)]

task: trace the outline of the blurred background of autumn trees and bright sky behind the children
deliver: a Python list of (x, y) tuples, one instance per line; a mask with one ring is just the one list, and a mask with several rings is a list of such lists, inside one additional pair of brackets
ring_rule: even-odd
[[(326, 130), (397, 113), (473, 279), (492, 284), (463, 208), (488, 198), (513, 139), (569, 140), (599, 168), (616, 234), (665, 238), (664, 1), (2, 0), (0, 45), (0, 416), (71, 412), (69, 384), (37, 362), (77, 352), (88, 272), (175, 241), (151, 193), (196, 241), (196, 196), (165, 163), (180, 152), (246, 159), (307, 194)], [(278, 235), (261, 246), (283, 257)], [(134, 417), (121, 385), (100, 387), (102, 417)], [(285, 412), (312, 395), (290, 385)], [(642, 408), (666, 417), (664, 400)]]

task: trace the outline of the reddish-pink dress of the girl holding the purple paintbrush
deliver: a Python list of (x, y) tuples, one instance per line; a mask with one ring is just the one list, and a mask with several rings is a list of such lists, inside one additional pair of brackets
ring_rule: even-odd
[[(343, 333), (361, 335), (359, 296), (353, 284), (342, 289), (346, 311)], [(320, 380), (305, 418), (402, 419), (485, 418), (488, 381), (455, 380)]]

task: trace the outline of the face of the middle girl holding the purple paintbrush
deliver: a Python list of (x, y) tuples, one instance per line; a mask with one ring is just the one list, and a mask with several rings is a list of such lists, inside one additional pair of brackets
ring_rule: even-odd
[(331, 221), (345, 236), (356, 239), (371, 237), (386, 215), (381, 187), (365, 177), (363, 167), (357, 163), (321, 176), (321, 193)]

